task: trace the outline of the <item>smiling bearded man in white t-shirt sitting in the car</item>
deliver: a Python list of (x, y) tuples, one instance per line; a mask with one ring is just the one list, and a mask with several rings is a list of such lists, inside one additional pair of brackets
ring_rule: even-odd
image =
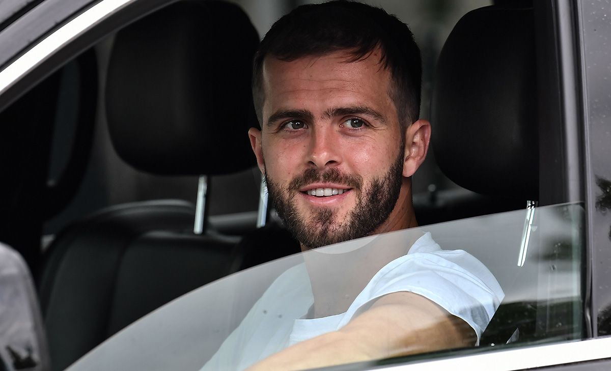
[[(420, 74), (408, 27), (368, 5), (304, 5), (266, 34), (253, 80), (261, 129), (249, 137), (302, 251), (417, 226), (411, 176), (431, 134), (418, 120)], [(307, 369), (477, 344), (503, 297), (496, 280), (464, 251), (411, 236), (349, 256), (306, 253), (208, 369)], [(276, 306), (281, 320), (268, 318)]]

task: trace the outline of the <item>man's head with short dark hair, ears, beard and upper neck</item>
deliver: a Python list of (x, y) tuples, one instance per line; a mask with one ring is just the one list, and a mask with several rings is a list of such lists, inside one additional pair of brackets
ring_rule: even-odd
[(420, 75), (408, 27), (364, 4), (306, 5), (268, 32), (253, 84), (262, 131), (249, 135), (302, 247), (416, 225), (409, 177), (431, 132)]

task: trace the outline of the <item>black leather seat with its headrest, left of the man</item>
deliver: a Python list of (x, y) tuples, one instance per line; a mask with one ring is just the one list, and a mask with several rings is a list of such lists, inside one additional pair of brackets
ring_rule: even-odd
[[(236, 5), (172, 4), (119, 31), (106, 113), (120, 157), (158, 175), (252, 167), (251, 62), (258, 35)], [(194, 184), (196, 192), (196, 184)], [(193, 234), (177, 200), (123, 204), (66, 228), (46, 256), (40, 298), (62, 370), (137, 318), (232, 272), (237, 240)]]

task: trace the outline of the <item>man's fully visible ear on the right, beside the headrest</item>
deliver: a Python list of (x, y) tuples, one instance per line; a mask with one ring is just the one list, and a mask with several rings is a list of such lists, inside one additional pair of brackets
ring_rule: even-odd
[(431, 140), (431, 124), (426, 120), (412, 123), (405, 131), (405, 154), (403, 161), (403, 176), (414, 175), (422, 165), (428, 152), (428, 143)]

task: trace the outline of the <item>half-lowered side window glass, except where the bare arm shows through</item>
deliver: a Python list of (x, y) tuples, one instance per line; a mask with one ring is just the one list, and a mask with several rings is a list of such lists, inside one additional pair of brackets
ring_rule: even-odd
[[(473, 335), (464, 346), (469, 351), (579, 339), (582, 215), (580, 204), (538, 207), (365, 237), (259, 265), (172, 301), (69, 370), (244, 369), (318, 339), (321, 328), (367, 320), (394, 291), (433, 301), (436, 321), (463, 320)], [(412, 323), (406, 336), (417, 337), (433, 322)], [(429, 350), (416, 343), (389, 356), (422, 351)]]

